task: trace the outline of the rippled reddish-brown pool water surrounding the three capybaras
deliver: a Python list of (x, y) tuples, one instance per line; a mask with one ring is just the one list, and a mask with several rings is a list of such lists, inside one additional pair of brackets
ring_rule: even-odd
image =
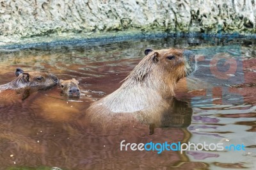
[[(0, 104), (0, 169), (255, 169), (255, 40), (243, 38), (156, 38), (113, 43), (77, 43), (0, 52), (0, 84), (15, 68), (76, 78), (79, 100), (60, 88), (13, 95)], [(193, 50), (198, 70), (175, 90), (175, 114), (159, 125), (130, 122), (102, 128), (86, 119), (92, 102), (120, 87), (144, 50)], [(120, 151), (125, 143), (244, 144), (245, 151)]]

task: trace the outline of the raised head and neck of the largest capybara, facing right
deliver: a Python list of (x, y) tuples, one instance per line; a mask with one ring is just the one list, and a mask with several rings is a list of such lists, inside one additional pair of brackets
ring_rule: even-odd
[(145, 50), (145, 58), (125, 78), (122, 88), (134, 85), (157, 91), (162, 97), (173, 96), (175, 84), (196, 68), (195, 55), (190, 50)]

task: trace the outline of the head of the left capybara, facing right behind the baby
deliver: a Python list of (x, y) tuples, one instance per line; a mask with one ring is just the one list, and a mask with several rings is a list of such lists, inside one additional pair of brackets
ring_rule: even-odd
[(33, 89), (47, 89), (58, 84), (58, 78), (49, 72), (24, 72), (17, 68), (16, 79), (12, 81), (14, 88), (29, 87)]

